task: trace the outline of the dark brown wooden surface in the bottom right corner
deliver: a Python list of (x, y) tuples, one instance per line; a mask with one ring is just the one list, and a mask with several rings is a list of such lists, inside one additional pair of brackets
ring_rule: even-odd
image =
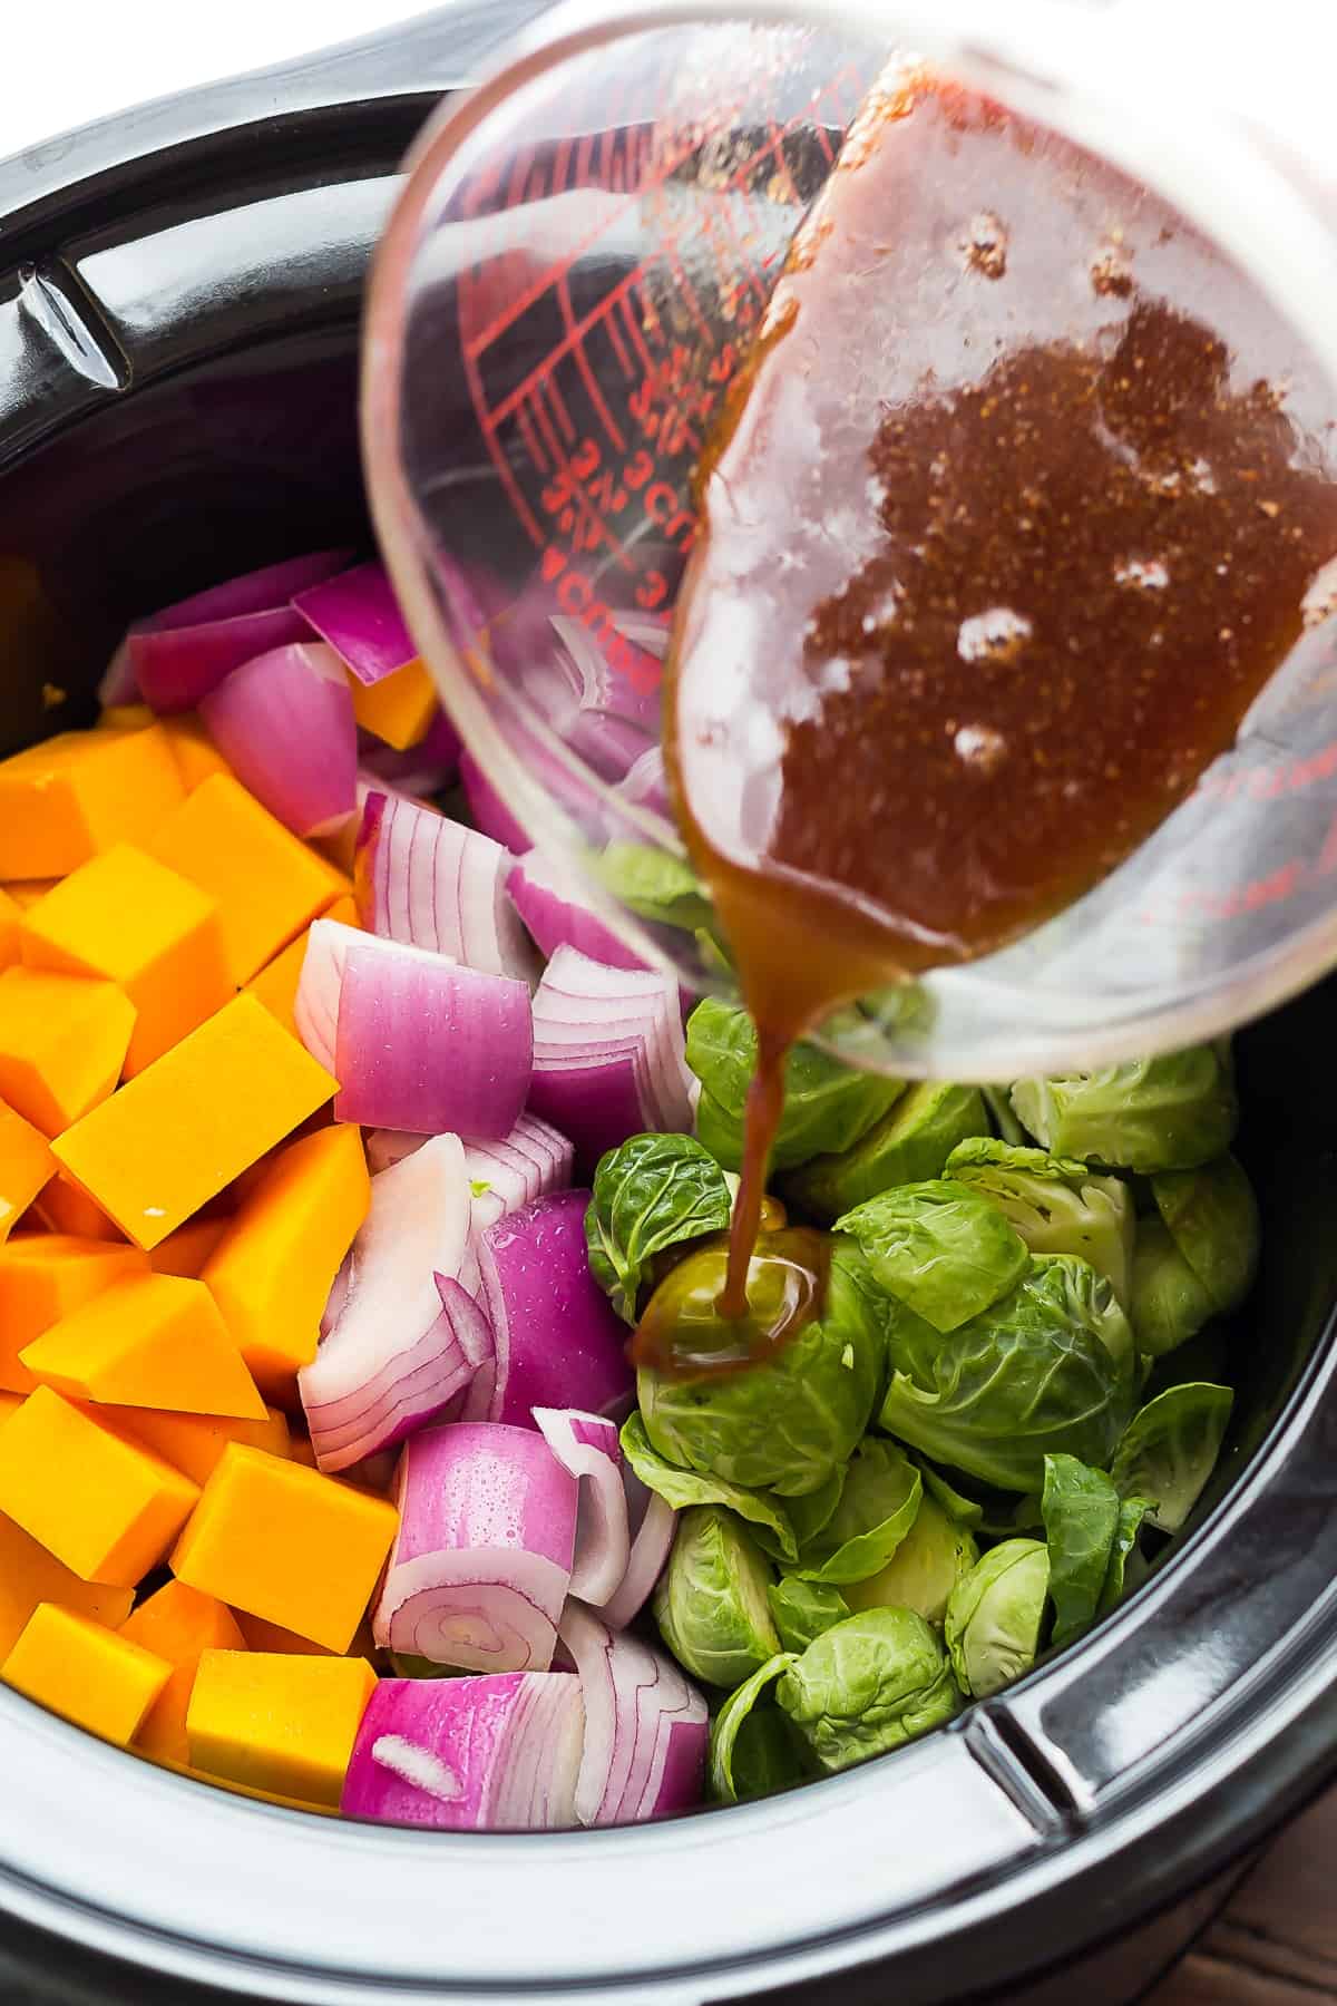
[(1275, 1842), (1145, 2006), (1321, 2000), (1337, 2000), (1337, 1791)]

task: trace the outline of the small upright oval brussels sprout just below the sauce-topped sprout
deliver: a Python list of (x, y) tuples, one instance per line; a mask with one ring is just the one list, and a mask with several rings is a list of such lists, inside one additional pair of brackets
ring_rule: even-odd
[(692, 1504), (653, 1593), (659, 1635), (694, 1679), (740, 1685), (780, 1649), (766, 1605), (772, 1573), (740, 1519)]

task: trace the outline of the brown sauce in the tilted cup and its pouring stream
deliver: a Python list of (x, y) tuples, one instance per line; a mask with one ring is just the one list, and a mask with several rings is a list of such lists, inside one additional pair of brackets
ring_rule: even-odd
[(678, 608), (667, 764), (762, 1051), (730, 1328), (788, 1043), (1038, 925), (1185, 798), (1337, 550), (1329, 413), (1145, 189), (922, 68), (860, 112)]

